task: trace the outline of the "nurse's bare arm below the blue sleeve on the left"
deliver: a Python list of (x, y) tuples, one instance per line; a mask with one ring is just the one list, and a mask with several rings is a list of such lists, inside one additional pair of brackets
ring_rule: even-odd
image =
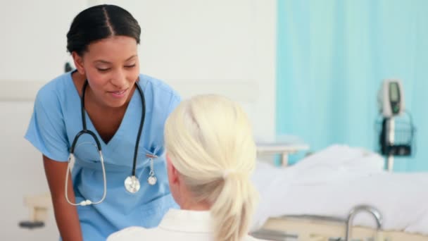
[[(68, 162), (53, 161), (43, 156), (44, 171), (48, 181), (49, 190), (53, 203), (56, 225), (63, 241), (82, 240), (82, 230), (80, 228), (79, 216), (76, 206), (73, 206), (65, 199), (65, 172)], [(75, 203), (75, 193), (73, 182), (68, 176), (68, 198)]]

